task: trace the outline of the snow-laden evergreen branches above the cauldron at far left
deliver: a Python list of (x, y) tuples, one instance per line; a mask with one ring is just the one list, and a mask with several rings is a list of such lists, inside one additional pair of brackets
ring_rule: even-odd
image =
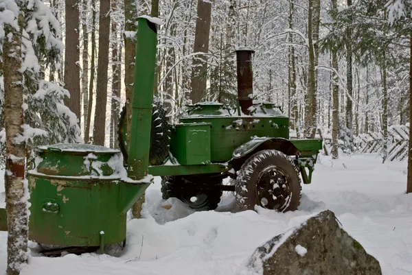
[[(69, 91), (44, 79), (45, 69), (60, 68), (64, 45), (60, 40), (60, 23), (50, 8), (40, 0), (0, 1), (0, 127), (3, 128), (2, 47), (5, 25), (19, 29), (17, 18), (23, 14), (22, 67), (25, 82), (23, 138), (30, 146), (47, 143), (82, 143), (76, 115), (65, 106)], [(0, 132), (4, 144), (4, 131)], [(4, 146), (3, 146), (4, 147)]]

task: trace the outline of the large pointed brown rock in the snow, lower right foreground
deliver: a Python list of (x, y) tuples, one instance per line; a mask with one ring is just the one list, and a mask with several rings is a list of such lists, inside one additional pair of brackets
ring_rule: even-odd
[(264, 275), (382, 274), (379, 262), (341, 228), (332, 211), (265, 243), (249, 267)]

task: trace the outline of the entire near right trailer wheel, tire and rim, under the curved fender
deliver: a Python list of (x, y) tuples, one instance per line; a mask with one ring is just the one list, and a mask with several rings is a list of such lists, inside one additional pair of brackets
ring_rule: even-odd
[(299, 169), (282, 152), (260, 151), (242, 165), (235, 191), (242, 210), (259, 205), (279, 212), (295, 211), (301, 197)]

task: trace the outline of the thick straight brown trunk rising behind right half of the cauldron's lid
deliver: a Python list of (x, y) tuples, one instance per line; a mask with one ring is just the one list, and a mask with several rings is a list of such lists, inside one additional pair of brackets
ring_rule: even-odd
[(98, 83), (96, 85), (96, 106), (93, 127), (93, 139), (97, 145), (104, 146), (106, 133), (106, 104), (107, 104), (107, 69), (108, 45), (110, 34), (110, 0), (100, 1), (99, 14), (99, 54), (98, 54)]

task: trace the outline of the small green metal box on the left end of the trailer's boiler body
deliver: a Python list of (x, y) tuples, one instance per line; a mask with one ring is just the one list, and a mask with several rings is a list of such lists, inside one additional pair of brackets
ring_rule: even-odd
[(170, 151), (181, 165), (210, 163), (210, 126), (211, 123), (174, 125)]

